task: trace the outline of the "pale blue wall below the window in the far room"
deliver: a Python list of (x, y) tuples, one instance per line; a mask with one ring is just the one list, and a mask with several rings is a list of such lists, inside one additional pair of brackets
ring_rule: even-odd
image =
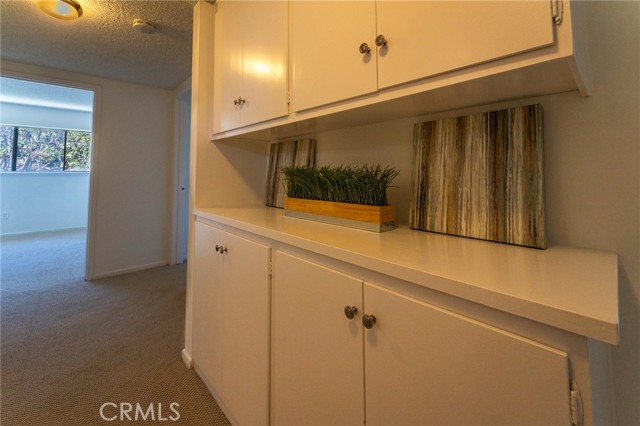
[(88, 172), (12, 172), (0, 179), (1, 235), (86, 228)]

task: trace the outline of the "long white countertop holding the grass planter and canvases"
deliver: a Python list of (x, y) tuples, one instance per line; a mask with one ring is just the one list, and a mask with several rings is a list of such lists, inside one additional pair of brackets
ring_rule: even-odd
[(375, 233), (284, 216), (276, 208), (197, 216), (617, 345), (615, 253), (538, 250), (400, 227)]

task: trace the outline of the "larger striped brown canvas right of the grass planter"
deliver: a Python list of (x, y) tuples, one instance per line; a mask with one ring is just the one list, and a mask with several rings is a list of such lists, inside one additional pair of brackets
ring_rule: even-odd
[(409, 226), (545, 248), (542, 106), (417, 123)]

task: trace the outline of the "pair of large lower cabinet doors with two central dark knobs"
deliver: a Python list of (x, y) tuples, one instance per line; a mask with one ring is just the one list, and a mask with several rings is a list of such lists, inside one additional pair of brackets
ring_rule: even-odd
[(272, 425), (570, 424), (568, 355), (274, 253)]

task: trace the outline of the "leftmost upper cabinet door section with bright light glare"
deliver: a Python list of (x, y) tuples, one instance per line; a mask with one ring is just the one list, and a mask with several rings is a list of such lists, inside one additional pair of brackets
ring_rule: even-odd
[(288, 114), (287, 3), (216, 4), (213, 132)]

